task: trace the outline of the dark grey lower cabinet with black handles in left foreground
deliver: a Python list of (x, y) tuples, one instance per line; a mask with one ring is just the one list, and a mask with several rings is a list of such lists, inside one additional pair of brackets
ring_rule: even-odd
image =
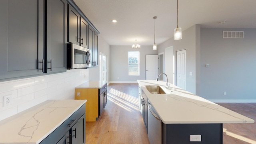
[(39, 144), (85, 144), (85, 104)]

